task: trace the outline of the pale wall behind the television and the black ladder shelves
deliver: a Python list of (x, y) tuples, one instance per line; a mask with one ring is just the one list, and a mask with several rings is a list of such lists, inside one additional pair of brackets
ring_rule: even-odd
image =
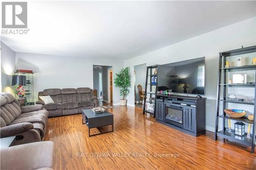
[[(166, 64), (187, 59), (206, 57), (206, 128), (214, 130), (218, 80), (219, 52), (256, 44), (256, 17), (234, 23), (227, 27), (166, 46), (124, 61), (124, 66), (146, 62), (147, 66)], [(134, 85), (132, 85), (134, 86)], [(253, 91), (251, 92), (253, 94)], [(128, 103), (133, 104), (134, 94), (129, 94)]]

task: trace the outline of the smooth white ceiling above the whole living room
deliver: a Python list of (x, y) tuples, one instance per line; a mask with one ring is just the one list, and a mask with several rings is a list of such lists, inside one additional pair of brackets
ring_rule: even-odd
[(125, 60), (255, 16), (255, 1), (28, 2), (15, 52)]

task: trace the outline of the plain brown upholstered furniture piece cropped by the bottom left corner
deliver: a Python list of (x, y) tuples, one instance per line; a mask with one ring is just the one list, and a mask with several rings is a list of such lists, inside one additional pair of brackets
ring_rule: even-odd
[(1, 149), (1, 169), (50, 169), (53, 145), (52, 141), (41, 141)]

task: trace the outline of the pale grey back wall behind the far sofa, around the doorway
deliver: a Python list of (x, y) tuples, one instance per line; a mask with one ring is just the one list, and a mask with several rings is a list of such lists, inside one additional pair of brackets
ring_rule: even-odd
[[(34, 99), (38, 91), (47, 88), (93, 88), (93, 65), (113, 66), (113, 77), (123, 67), (123, 61), (88, 60), (30, 53), (16, 53), (16, 68), (34, 71)], [(119, 89), (113, 86), (113, 103), (119, 104)]]

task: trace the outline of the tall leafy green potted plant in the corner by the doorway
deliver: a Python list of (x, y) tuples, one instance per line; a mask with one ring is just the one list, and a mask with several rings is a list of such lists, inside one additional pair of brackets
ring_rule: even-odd
[(129, 67), (122, 68), (119, 74), (116, 74), (114, 83), (116, 87), (121, 88), (120, 95), (122, 96), (122, 99), (120, 99), (120, 105), (125, 106), (126, 96), (129, 94), (128, 87), (131, 87), (131, 77), (130, 77)]

